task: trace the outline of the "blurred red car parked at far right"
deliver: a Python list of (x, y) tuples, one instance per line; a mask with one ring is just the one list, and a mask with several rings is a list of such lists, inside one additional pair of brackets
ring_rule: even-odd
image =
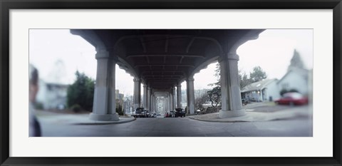
[(296, 92), (285, 93), (282, 98), (274, 101), (274, 103), (283, 105), (306, 105), (308, 102), (307, 97)]

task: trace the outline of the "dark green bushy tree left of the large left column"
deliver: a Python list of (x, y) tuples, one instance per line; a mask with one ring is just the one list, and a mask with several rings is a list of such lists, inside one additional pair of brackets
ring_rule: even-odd
[(67, 105), (80, 105), (84, 110), (91, 111), (93, 108), (93, 96), (95, 81), (84, 73), (76, 71), (76, 81), (68, 87)]

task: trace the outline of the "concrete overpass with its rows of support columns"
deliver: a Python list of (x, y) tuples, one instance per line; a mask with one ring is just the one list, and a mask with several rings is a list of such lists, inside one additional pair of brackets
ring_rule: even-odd
[[(195, 113), (194, 78), (210, 63), (221, 66), (220, 118), (244, 115), (239, 89), (237, 48), (264, 29), (72, 29), (97, 53), (93, 120), (119, 120), (115, 113), (115, 64), (134, 77), (134, 107), (156, 108), (158, 96), (167, 108), (182, 107), (181, 85), (187, 81), (187, 108)], [(140, 101), (140, 83), (143, 100)], [(176, 93), (177, 87), (177, 93)]]

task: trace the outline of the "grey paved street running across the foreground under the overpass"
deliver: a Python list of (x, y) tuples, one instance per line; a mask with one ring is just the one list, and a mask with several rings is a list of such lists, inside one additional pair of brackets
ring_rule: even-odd
[[(276, 108), (276, 107), (274, 107)], [(301, 109), (307, 109), (303, 107)], [(252, 109), (251, 109), (252, 110)], [(286, 110), (278, 110), (278, 112)], [(271, 114), (271, 113), (269, 113)], [(86, 115), (83, 115), (85, 118)], [(205, 122), (190, 118), (137, 118), (128, 123), (77, 125), (41, 116), (44, 137), (310, 137), (310, 116), (254, 121)], [(64, 118), (66, 119), (66, 118)]]

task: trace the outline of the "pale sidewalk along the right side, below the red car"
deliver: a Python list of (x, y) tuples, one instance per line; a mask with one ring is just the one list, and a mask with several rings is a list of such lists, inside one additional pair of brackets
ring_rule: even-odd
[(260, 113), (253, 111), (246, 111), (246, 115), (235, 118), (219, 118), (219, 113), (211, 113), (204, 115), (192, 115), (188, 118), (193, 120), (202, 120), (207, 122), (263, 122), (270, 120), (285, 120), (294, 118), (312, 118), (312, 108), (310, 106), (300, 106), (280, 110), (273, 113)]

